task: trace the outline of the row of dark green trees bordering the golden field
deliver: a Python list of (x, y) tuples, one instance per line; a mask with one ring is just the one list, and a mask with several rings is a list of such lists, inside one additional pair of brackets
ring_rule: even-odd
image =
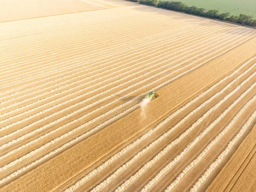
[(157, 6), (163, 9), (174, 10), (177, 12), (185, 12), (192, 15), (199, 15), (202, 17), (208, 17), (213, 19), (227, 20), (234, 23), (240, 23), (242, 25), (256, 26), (256, 20), (250, 15), (240, 14), (239, 16), (232, 15), (230, 13), (219, 13), (218, 10), (207, 11), (204, 8), (198, 8), (196, 6), (189, 7), (185, 3), (174, 2), (174, 1), (159, 1), (158, 0), (130, 0), (133, 2), (140, 2), (149, 6)]

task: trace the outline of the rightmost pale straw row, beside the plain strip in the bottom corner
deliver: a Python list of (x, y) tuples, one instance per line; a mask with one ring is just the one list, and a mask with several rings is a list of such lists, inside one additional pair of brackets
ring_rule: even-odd
[(218, 158), (213, 162), (207, 171), (202, 175), (200, 179), (195, 183), (195, 185), (190, 189), (190, 192), (196, 192), (198, 188), (204, 183), (204, 181), (209, 177), (209, 175), (212, 173), (212, 171), (218, 166), (219, 163), (224, 159), (224, 157), (232, 150), (233, 145), (236, 144), (236, 142), (239, 140), (239, 138), (244, 134), (244, 132), (247, 130), (247, 128), (250, 126), (250, 124), (255, 120), (256, 118), (256, 111), (253, 112), (253, 114), (250, 116), (250, 118), (247, 120), (247, 122), (242, 126), (239, 133), (236, 135), (236, 137), (233, 138), (233, 140), (230, 141), (230, 143), (227, 145), (227, 148), (218, 156)]

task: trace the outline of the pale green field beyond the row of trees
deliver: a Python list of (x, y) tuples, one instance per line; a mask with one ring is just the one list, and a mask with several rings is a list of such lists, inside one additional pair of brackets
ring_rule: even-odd
[(255, 0), (163, 0), (163, 1), (181, 1), (188, 6), (197, 6), (198, 8), (217, 9), (220, 13), (230, 12), (230, 15), (251, 15), (256, 18)]

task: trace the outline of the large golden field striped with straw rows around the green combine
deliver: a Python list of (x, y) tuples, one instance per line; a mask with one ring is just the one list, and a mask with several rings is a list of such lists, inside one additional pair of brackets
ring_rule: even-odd
[(0, 191), (221, 186), (256, 121), (256, 30), (102, 2), (0, 23)]

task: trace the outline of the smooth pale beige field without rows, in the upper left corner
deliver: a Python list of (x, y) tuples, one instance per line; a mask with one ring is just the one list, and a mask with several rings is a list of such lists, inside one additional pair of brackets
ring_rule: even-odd
[(102, 0), (9, 0), (0, 1), (0, 22), (86, 12), (115, 7)]

